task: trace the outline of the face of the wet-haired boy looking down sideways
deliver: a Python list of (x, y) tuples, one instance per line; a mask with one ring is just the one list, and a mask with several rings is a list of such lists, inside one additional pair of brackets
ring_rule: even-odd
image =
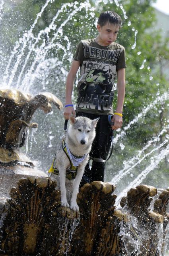
[(102, 27), (97, 24), (97, 30), (99, 31), (99, 36), (97, 37), (98, 43), (102, 46), (107, 46), (115, 42), (119, 29), (120, 26), (117, 24), (107, 23)]

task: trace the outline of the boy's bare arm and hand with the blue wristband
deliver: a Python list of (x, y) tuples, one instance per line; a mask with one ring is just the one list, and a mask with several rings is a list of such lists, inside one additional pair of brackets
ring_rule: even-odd
[[(65, 105), (72, 104), (72, 91), (74, 85), (74, 79), (76, 77), (76, 73), (80, 67), (80, 62), (77, 60), (73, 60), (72, 65), (70, 67), (70, 71), (68, 73), (66, 79), (66, 103)], [(75, 116), (74, 107), (65, 107), (64, 108), (64, 118), (69, 119), (70, 115), (73, 114)]]

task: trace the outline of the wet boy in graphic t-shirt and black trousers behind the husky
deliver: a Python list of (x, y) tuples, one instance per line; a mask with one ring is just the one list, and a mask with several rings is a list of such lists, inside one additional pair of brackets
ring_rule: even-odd
[[(112, 130), (122, 126), (126, 61), (124, 47), (115, 43), (121, 24), (122, 20), (117, 13), (101, 13), (97, 24), (99, 35), (78, 44), (66, 80), (65, 119), (69, 119), (71, 114), (75, 115), (72, 90), (79, 67), (81, 78), (78, 81), (76, 116), (82, 115), (90, 119), (100, 117), (90, 153), (92, 167), (89, 169), (89, 163), (86, 165), (81, 186), (92, 181), (104, 181), (105, 160), (111, 147)], [(113, 115), (116, 74), (118, 96), (116, 112)], [(110, 125), (108, 115), (113, 115), (111, 121), (114, 125)]]

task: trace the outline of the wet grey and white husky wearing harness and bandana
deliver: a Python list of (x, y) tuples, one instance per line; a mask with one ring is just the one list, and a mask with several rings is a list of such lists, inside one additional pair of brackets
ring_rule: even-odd
[[(99, 118), (91, 120), (82, 116), (76, 118), (70, 116), (66, 139), (63, 141), (62, 147), (56, 151), (52, 169), (49, 170), (49, 173), (52, 173), (51, 179), (58, 181), (59, 175), (62, 206), (70, 206), (72, 210), (79, 210), (76, 202), (77, 194), (85, 165), (89, 160), (89, 152), (95, 138), (95, 127), (98, 120)], [(64, 152), (65, 149), (66, 152)], [(70, 165), (70, 163), (72, 164)], [(67, 200), (67, 196), (70, 195), (66, 196), (66, 189), (71, 194), (70, 205)]]

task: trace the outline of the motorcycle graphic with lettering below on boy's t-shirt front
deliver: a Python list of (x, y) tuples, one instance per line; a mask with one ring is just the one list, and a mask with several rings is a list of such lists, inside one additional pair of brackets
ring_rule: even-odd
[(112, 105), (115, 74), (109, 65), (87, 71), (78, 88), (78, 107), (105, 110)]

